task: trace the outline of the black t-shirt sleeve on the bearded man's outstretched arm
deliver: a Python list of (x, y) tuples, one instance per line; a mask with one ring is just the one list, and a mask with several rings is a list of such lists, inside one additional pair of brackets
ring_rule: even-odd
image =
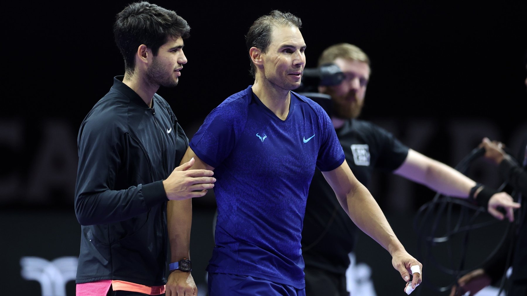
[(408, 147), (395, 138), (391, 132), (377, 126), (374, 129), (379, 141), (379, 158), (375, 168), (389, 172), (398, 169), (408, 156)]

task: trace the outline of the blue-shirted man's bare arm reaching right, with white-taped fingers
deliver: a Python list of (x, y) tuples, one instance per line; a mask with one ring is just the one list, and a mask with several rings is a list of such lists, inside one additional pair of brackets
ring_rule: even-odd
[[(393, 267), (401, 273), (405, 281), (409, 280), (408, 271), (411, 266), (418, 265), (422, 270), (422, 264), (406, 252), (389, 226), (383, 211), (368, 189), (355, 178), (346, 161), (338, 168), (322, 173), (348, 216), (391, 254)], [(421, 274), (413, 275), (412, 288), (415, 288), (416, 284), (421, 283), (422, 277)]]

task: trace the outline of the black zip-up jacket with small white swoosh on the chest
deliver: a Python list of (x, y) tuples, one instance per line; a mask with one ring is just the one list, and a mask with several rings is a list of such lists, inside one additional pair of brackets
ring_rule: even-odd
[(122, 79), (114, 78), (79, 130), (76, 283), (163, 285), (169, 245), (162, 180), (179, 165), (188, 139), (167, 101), (155, 94), (149, 108)]

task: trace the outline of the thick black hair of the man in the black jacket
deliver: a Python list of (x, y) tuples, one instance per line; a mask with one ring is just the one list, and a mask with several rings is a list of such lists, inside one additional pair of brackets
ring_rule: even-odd
[(124, 58), (127, 73), (133, 74), (135, 54), (141, 44), (157, 56), (159, 47), (169, 37), (183, 39), (190, 36), (190, 27), (175, 12), (148, 2), (137, 2), (126, 6), (115, 17), (113, 35)]

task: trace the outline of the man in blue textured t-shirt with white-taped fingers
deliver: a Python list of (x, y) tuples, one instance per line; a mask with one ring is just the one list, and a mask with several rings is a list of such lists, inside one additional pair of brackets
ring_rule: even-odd
[[(300, 238), (315, 167), (357, 226), (389, 251), (405, 281), (412, 266), (422, 267), (344, 161), (325, 111), (291, 91), (306, 63), (300, 27), (298, 17), (279, 11), (253, 23), (246, 42), (255, 83), (211, 111), (183, 157), (196, 160), (194, 169), (214, 170), (217, 179), (210, 295), (305, 295)], [(189, 228), (191, 214), (178, 215), (169, 227)], [(413, 273), (412, 287), (420, 282)]]

